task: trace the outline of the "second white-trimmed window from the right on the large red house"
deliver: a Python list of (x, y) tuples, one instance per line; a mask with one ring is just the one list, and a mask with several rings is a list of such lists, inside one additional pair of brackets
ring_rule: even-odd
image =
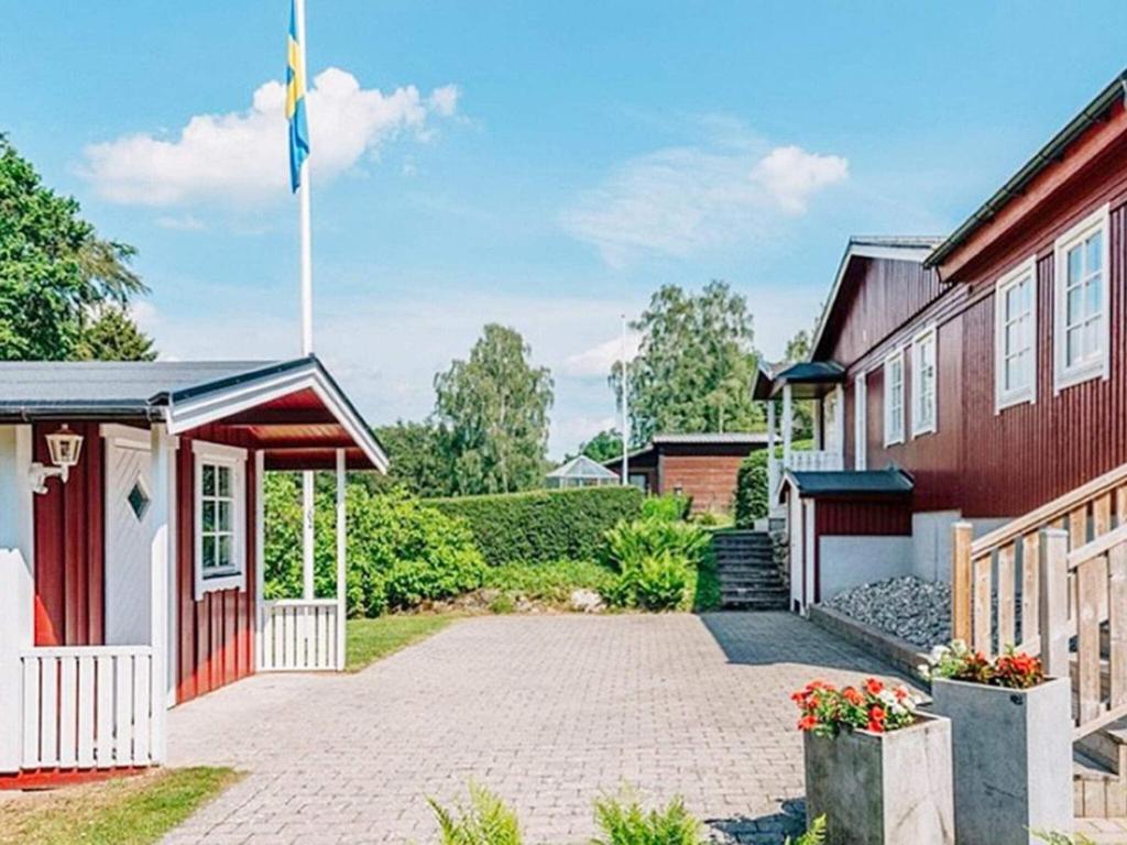
[(1037, 399), (1037, 257), (994, 290), (994, 393), (999, 411)]

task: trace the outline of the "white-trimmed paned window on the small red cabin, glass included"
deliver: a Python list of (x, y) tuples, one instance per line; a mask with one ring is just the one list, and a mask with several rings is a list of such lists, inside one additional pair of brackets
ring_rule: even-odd
[(195, 441), (196, 597), (246, 589), (246, 450)]

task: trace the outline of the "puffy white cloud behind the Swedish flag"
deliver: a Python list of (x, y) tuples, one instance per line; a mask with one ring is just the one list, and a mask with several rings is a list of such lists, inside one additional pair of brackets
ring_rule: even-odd
[[(313, 181), (330, 180), (397, 134), (426, 140), (428, 119), (453, 115), (458, 99), (454, 86), (427, 96), (414, 86), (383, 94), (362, 88), (339, 68), (319, 73), (308, 94)], [(284, 196), (290, 178), (284, 103), (283, 84), (266, 82), (249, 109), (196, 115), (175, 139), (141, 133), (91, 144), (81, 172), (116, 203), (256, 203)]]

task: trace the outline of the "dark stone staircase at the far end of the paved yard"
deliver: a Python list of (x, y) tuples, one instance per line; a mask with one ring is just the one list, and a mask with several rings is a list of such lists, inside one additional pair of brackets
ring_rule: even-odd
[(730, 611), (786, 611), (790, 589), (774, 562), (771, 535), (724, 531), (712, 536), (720, 601)]

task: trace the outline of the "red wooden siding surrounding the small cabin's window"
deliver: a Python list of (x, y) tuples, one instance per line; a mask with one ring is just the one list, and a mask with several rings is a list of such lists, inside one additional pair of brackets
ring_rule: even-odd
[(255, 671), (255, 468), (247, 460), (247, 589), (205, 593), (195, 601), (195, 459), (192, 441), (246, 446), (216, 428), (180, 437), (177, 456), (179, 642), (177, 701), (184, 702)]

